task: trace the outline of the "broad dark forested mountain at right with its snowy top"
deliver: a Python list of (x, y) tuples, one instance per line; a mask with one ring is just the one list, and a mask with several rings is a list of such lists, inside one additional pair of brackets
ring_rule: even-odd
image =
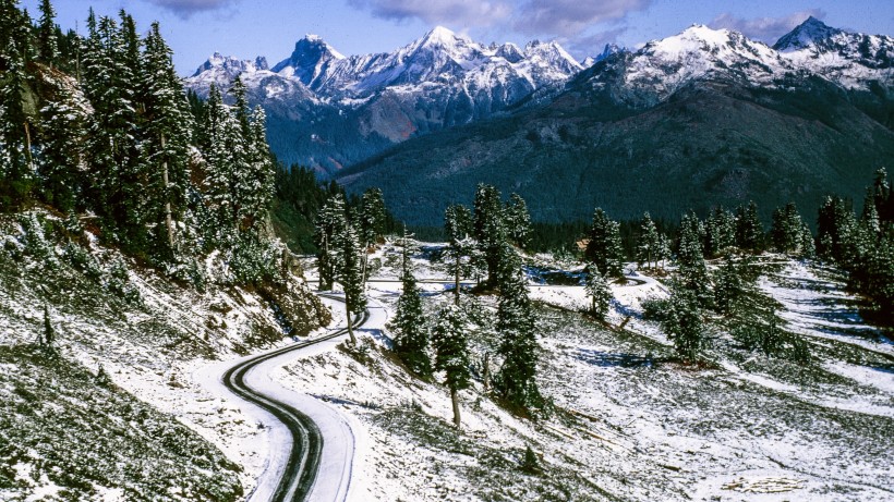
[[(891, 39), (827, 32), (780, 52), (692, 26), (609, 56), (509, 117), (414, 138), (337, 180), (382, 186), (398, 218), (432, 225), (478, 182), (520, 193), (542, 221), (585, 219), (595, 206), (677, 219), (752, 198), (769, 219), (789, 200), (807, 215), (827, 193), (859, 200), (862, 180), (894, 155), (891, 52), (867, 62), (830, 47)], [(798, 64), (830, 51), (853, 70)]]

